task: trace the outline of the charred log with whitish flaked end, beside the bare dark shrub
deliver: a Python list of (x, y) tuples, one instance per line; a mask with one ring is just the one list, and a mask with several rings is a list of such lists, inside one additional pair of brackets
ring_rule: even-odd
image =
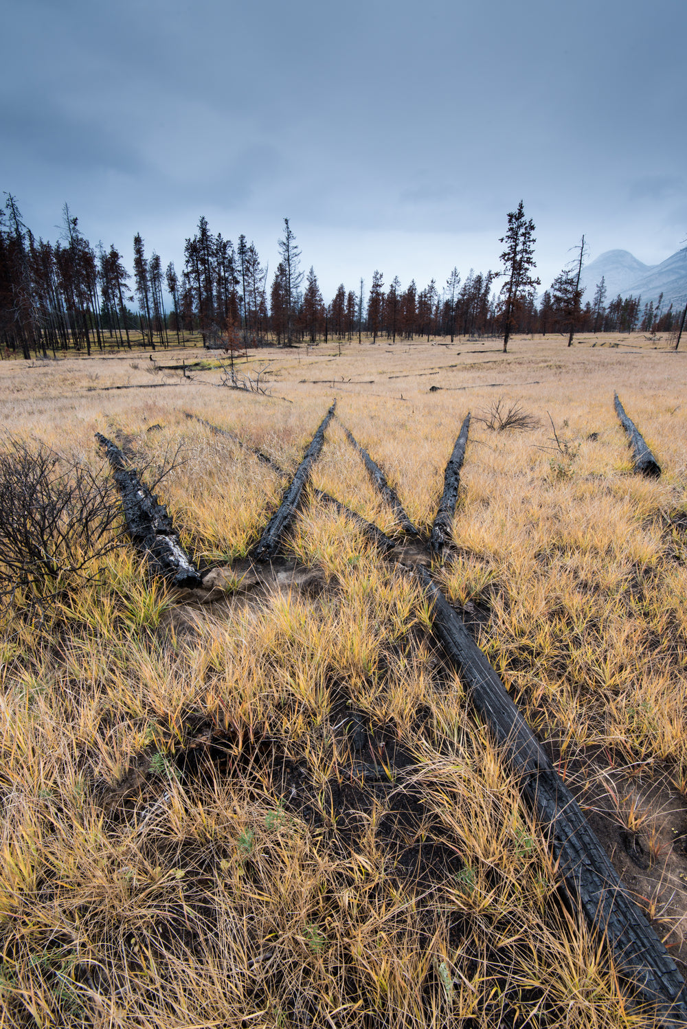
[(200, 587), (201, 575), (181, 545), (167, 507), (158, 503), (137, 473), (128, 467), (124, 455), (111, 439), (100, 432), (96, 433), (96, 439), (105, 448), (134, 545), (146, 554), (152, 570), (173, 586), (189, 590)]

